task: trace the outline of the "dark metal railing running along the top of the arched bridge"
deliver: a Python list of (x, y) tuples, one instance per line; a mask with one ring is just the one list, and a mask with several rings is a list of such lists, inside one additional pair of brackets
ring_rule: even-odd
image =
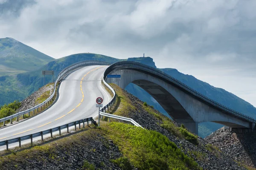
[(144, 71), (146, 73), (152, 74), (153, 76), (160, 77), (162, 79), (165, 79), (165, 80), (171, 82), (174, 85), (177, 85), (178, 87), (189, 92), (190, 94), (204, 100), (208, 104), (213, 105), (214, 107), (216, 107), (218, 109), (221, 109), (222, 111), (233, 114), (233, 115), (235, 115), (241, 119), (245, 119), (249, 122), (253, 122), (253, 123), (256, 122), (256, 120), (250, 116), (246, 116), (246, 115), (239, 113), (237, 111), (234, 111), (233, 109), (230, 109), (224, 105), (221, 105), (220, 103), (215, 102), (212, 99), (209, 99), (207, 96), (204, 96), (203, 94), (199, 93), (198, 91), (195, 91), (194, 89), (190, 88), (188, 85), (185, 85), (183, 82), (180, 82), (179, 80), (175, 79), (174, 77), (170, 76), (169, 74), (166, 74), (157, 68), (142, 64), (140, 62), (134, 62), (134, 61), (116, 62), (106, 69), (106, 71), (104, 73), (104, 77), (107, 77), (107, 75), (110, 74), (111, 71), (119, 70), (119, 69), (134, 69), (137, 71)]

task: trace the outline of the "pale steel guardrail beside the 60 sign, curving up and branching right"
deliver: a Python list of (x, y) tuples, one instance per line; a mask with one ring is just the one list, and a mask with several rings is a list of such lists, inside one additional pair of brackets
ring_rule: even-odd
[[(115, 90), (107, 83), (105, 82), (105, 79), (104, 77), (102, 78), (102, 82), (104, 83), (104, 85), (112, 91), (113, 93), (113, 98), (111, 99), (111, 101), (105, 105), (100, 111), (99, 111), (99, 114), (101, 115), (101, 119), (102, 119), (102, 116), (106, 116), (106, 117), (109, 117), (109, 122), (110, 122), (110, 118), (114, 118), (114, 119), (119, 119), (119, 120), (124, 120), (124, 121), (128, 121), (128, 122), (131, 122), (132, 124), (134, 124), (135, 126), (137, 127), (142, 127), (141, 125), (139, 125), (137, 122), (134, 121), (134, 119), (131, 119), (131, 118), (127, 118), (127, 117), (122, 117), (122, 116), (116, 116), (116, 115), (113, 115), (113, 114), (108, 114), (108, 113), (104, 113), (106, 112), (106, 109), (108, 110), (108, 108), (112, 108), (113, 107), (113, 104), (116, 102), (116, 92)], [(143, 127), (142, 127), (143, 128)]]

